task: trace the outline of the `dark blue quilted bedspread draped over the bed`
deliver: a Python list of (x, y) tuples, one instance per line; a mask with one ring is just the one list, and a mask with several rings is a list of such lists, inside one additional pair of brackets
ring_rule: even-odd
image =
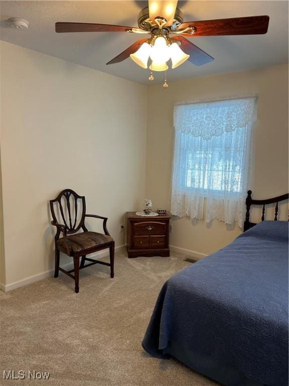
[(163, 286), (142, 347), (171, 342), (265, 385), (288, 385), (288, 223), (264, 221)]

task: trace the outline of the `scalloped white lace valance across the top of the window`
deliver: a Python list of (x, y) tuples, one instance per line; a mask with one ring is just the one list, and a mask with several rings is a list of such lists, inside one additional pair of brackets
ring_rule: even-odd
[(176, 105), (175, 130), (209, 140), (254, 123), (256, 97)]

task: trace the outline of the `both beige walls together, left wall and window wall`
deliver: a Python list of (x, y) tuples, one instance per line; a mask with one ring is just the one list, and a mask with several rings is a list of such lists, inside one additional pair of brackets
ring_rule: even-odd
[[(52, 269), (48, 201), (65, 187), (86, 196), (87, 212), (108, 216), (116, 246), (123, 244), (119, 224), (124, 212), (141, 208), (145, 195), (154, 208), (170, 207), (177, 101), (257, 93), (250, 187), (258, 198), (286, 192), (287, 86), (287, 66), (280, 65), (187, 79), (168, 89), (158, 84), (148, 93), (146, 86), (2, 42), (6, 261), (1, 226), (0, 282), (5, 283), (5, 265), (8, 286)], [(95, 229), (95, 221), (88, 224)], [(171, 244), (200, 254), (221, 248), (240, 233), (217, 220), (210, 226), (189, 219), (172, 224)]]

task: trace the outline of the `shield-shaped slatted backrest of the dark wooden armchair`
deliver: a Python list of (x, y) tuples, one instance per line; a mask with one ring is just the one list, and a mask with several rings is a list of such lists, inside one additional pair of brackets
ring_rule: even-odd
[(79, 196), (74, 190), (62, 190), (56, 199), (50, 200), (50, 210), (54, 221), (66, 225), (67, 233), (85, 229), (85, 197)]

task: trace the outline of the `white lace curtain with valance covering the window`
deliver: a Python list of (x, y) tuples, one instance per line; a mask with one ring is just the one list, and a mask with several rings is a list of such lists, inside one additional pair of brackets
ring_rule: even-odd
[(243, 227), (256, 98), (176, 105), (171, 212)]

